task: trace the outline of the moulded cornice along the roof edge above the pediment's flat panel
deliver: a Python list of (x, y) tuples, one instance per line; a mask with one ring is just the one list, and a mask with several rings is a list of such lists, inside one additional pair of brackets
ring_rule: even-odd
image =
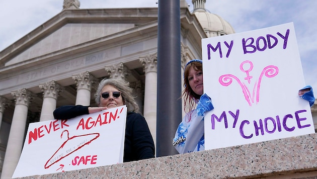
[(128, 23), (141, 25), (157, 20), (157, 8), (63, 10), (0, 52), (0, 67), (35, 42), (68, 23)]

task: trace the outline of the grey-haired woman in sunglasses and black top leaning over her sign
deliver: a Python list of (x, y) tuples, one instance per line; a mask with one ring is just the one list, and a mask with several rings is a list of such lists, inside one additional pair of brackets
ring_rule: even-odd
[(144, 117), (138, 113), (139, 107), (131, 94), (132, 89), (129, 87), (129, 82), (119, 79), (103, 79), (95, 94), (98, 107), (61, 106), (53, 112), (53, 115), (55, 119), (71, 119), (126, 105), (128, 113), (123, 162), (154, 158), (155, 149), (152, 135)]

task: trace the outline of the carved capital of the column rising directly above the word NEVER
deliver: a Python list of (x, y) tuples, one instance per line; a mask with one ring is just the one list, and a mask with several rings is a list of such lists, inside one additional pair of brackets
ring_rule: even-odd
[(43, 97), (51, 97), (57, 100), (59, 92), (62, 92), (64, 90), (64, 87), (55, 82), (54, 80), (50, 82), (45, 82), (44, 84), (39, 84), (39, 87), (41, 88), (43, 92)]

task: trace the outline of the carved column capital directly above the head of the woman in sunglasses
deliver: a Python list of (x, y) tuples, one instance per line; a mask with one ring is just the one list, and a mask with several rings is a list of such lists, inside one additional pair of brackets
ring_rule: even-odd
[(109, 78), (112, 79), (126, 79), (127, 76), (131, 74), (131, 70), (129, 70), (122, 62), (112, 65), (106, 66), (105, 70), (110, 75)]

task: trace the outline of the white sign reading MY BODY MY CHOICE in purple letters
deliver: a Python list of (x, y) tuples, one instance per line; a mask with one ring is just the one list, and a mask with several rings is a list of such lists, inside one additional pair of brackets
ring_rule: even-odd
[(293, 23), (202, 39), (205, 149), (314, 133)]

